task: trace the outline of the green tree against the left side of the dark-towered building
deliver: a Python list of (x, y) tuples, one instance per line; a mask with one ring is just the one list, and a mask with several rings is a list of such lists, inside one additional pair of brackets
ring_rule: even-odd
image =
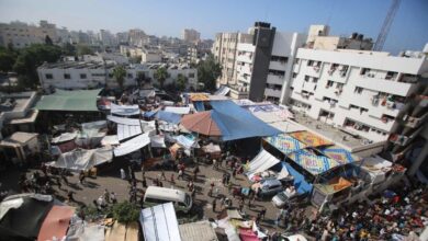
[(222, 66), (215, 61), (213, 55), (198, 64), (198, 80), (206, 90), (215, 90), (215, 81), (222, 74)]

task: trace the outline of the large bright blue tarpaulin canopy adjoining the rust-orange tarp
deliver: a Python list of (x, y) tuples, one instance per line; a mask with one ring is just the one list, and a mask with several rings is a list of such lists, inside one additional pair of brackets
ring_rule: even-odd
[(212, 118), (222, 131), (222, 139), (236, 140), (249, 137), (264, 137), (280, 134), (279, 129), (251, 115), (233, 101), (210, 102), (214, 112)]

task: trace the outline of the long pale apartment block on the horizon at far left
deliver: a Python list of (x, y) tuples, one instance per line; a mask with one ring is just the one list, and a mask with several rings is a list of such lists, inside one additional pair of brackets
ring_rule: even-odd
[(0, 23), (0, 45), (4, 47), (9, 44), (15, 48), (23, 48), (31, 44), (43, 44), (46, 36), (49, 36), (54, 43), (58, 42), (55, 24), (45, 20), (40, 21), (38, 26), (19, 21)]

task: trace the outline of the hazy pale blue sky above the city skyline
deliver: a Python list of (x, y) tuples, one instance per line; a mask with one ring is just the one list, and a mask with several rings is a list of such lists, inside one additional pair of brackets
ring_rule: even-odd
[[(217, 32), (247, 31), (255, 21), (282, 32), (306, 33), (329, 24), (331, 34), (359, 32), (376, 38), (392, 0), (0, 0), (0, 22), (48, 20), (68, 30), (133, 27), (180, 36), (192, 27), (203, 38)], [(420, 50), (428, 42), (428, 0), (402, 0), (385, 50)]]

